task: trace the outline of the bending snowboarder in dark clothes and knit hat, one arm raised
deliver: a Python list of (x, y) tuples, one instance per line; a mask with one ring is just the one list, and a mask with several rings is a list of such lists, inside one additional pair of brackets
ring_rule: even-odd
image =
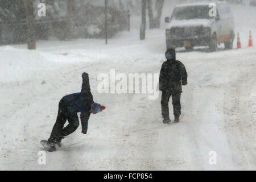
[[(48, 140), (42, 140), (42, 145), (47, 151), (56, 151), (56, 147), (61, 147), (61, 139), (72, 134), (79, 127), (79, 117), (77, 116), (79, 112), (81, 112), (82, 133), (86, 134), (90, 114), (97, 114), (104, 109), (105, 106), (101, 106), (93, 101), (93, 96), (90, 92), (89, 75), (88, 73), (82, 73), (81, 92), (69, 94), (61, 98), (51, 136)], [(64, 127), (67, 120), (68, 125)]]

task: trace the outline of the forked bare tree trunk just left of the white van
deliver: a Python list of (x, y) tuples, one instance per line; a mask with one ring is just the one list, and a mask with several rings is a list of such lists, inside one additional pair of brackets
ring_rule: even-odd
[(160, 28), (160, 20), (163, 11), (164, 0), (154, 0), (155, 7), (153, 9), (152, 0), (147, 1), (148, 18), (150, 22), (150, 29)]

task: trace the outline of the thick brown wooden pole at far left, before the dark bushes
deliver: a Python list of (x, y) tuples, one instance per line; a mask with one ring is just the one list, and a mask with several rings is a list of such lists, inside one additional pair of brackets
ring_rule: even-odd
[(26, 0), (26, 4), (27, 4), (27, 48), (32, 50), (32, 49), (36, 49), (33, 0)]

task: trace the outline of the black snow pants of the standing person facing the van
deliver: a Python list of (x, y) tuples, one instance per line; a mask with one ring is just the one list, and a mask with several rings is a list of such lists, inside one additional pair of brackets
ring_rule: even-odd
[(180, 111), (181, 92), (172, 93), (171, 90), (163, 90), (161, 105), (162, 105), (162, 116), (164, 119), (170, 119), (168, 104), (171, 96), (172, 96), (172, 105), (174, 106), (174, 115), (181, 114), (181, 111)]

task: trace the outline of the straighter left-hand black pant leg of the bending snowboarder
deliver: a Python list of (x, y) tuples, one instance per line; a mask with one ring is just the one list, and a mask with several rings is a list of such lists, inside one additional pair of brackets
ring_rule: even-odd
[(60, 141), (63, 139), (63, 127), (65, 125), (65, 122), (67, 121), (67, 109), (65, 109), (65, 104), (63, 100), (59, 103), (59, 111), (57, 115), (57, 119), (55, 122), (55, 125), (53, 126), (52, 133), (50, 138), (48, 139), (49, 142), (52, 141)]

